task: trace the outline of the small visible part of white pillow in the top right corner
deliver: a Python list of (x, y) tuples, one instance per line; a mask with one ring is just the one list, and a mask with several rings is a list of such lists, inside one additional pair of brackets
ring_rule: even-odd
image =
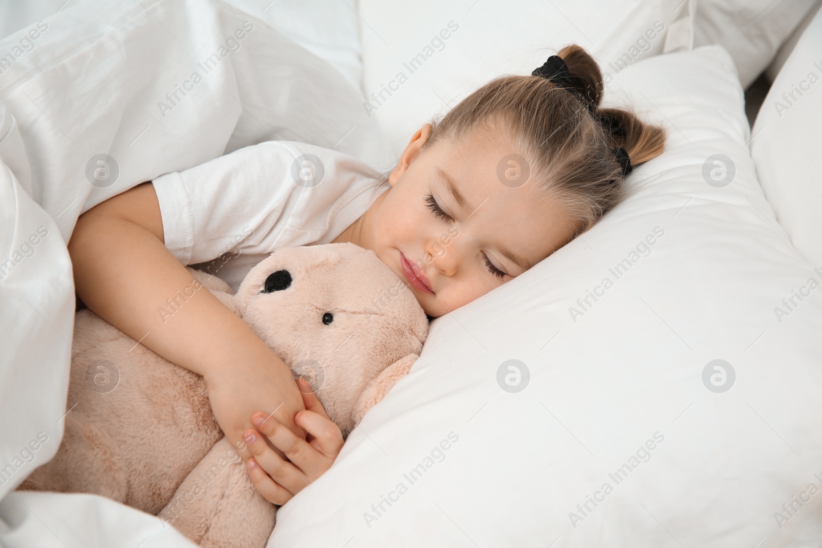
[(782, 44), (817, 0), (697, 0), (694, 45), (721, 44), (747, 88), (774, 60)]

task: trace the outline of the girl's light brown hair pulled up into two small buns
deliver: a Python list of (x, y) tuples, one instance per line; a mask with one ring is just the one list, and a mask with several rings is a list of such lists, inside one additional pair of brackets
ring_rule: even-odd
[[(529, 163), (528, 184), (533, 181), (543, 196), (570, 215), (565, 220), (573, 228), (573, 239), (625, 196), (613, 148), (625, 149), (635, 166), (662, 154), (665, 131), (628, 110), (599, 108), (603, 74), (584, 48), (570, 44), (557, 55), (568, 67), (568, 87), (542, 76), (500, 76), (433, 121), (419, 152), (441, 140), (457, 143), (481, 127), (496, 126)], [(383, 188), (387, 178), (375, 190)]]

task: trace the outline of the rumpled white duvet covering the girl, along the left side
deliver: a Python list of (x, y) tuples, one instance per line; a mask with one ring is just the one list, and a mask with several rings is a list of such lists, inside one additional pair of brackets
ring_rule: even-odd
[[(339, 71), (221, 2), (72, 2), (0, 41), (0, 497), (60, 443), (75, 306), (65, 242), (81, 212), (263, 140), (368, 161), (378, 138)], [(14, 493), (0, 516), (7, 547), (187, 545), (87, 495)]]

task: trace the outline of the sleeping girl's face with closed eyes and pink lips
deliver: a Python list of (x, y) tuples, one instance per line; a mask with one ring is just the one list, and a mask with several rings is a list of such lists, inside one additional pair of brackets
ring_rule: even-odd
[(414, 134), (390, 174), (391, 188), (363, 215), (355, 243), (375, 251), (425, 313), (439, 317), (536, 265), (573, 230), (533, 182), (503, 184), (499, 164), (501, 173), (516, 168), (505, 159), (516, 151), (495, 134), (459, 145), (443, 140), (419, 154), (431, 130), (426, 124)]

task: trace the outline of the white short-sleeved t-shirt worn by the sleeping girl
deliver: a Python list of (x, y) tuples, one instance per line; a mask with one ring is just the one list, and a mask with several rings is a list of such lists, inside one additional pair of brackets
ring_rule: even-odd
[(333, 241), (379, 196), (380, 177), (348, 154), (272, 140), (152, 184), (165, 246), (237, 291), (272, 251)]

